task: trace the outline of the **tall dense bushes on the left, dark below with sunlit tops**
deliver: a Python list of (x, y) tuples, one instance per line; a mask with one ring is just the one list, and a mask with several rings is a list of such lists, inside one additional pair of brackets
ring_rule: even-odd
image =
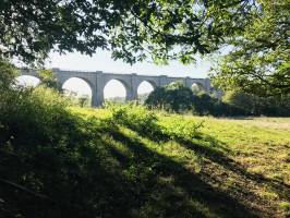
[(89, 123), (72, 116), (55, 89), (16, 87), (11, 76), (1, 82), (0, 217), (86, 217), (87, 205), (80, 210), (72, 201), (85, 201), (75, 177), (86, 174), (80, 155)]

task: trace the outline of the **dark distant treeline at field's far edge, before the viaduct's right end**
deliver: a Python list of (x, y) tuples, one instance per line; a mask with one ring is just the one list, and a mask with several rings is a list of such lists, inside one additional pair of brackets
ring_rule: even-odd
[(194, 92), (180, 83), (157, 87), (145, 100), (145, 105), (154, 109), (198, 116), (290, 116), (290, 96), (257, 97), (232, 90), (225, 93), (219, 99), (214, 94)]

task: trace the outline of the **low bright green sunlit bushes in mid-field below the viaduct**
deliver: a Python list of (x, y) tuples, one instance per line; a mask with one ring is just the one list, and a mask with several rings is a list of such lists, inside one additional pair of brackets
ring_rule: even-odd
[(160, 122), (156, 112), (144, 106), (108, 104), (107, 109), (111, 111), (111, 122), (128, 126), (141, 135), (150, 136), (154, 140), (192, 138), (198, 134), (203, 123), (195, 123), (180, 116), (172, 116), (170, 120)]

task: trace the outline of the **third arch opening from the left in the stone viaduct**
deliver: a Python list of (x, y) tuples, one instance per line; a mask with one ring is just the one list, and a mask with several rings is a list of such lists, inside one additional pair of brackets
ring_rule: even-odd
[(124, 104), (126, 95), (126, 85), (122, 81), (110, 80), (104, 87), (104, 99), (106, 101)]

